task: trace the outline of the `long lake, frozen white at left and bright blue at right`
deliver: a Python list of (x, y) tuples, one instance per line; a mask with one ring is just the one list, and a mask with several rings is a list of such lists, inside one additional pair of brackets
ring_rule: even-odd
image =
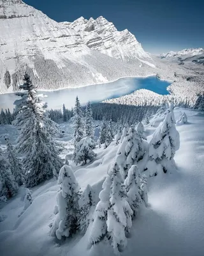
[[(170, 81), (157, 79), (156, 76), (149, 77), (126, 77), (117, 81), (105, 84), (94, 84), (80, 88), (67, 88), (55, 91), (38, 91), (44, 93), (47, 98), (49, 109), (62, 108), (64, 103), (66, 108), (75, 105), (75, 99), (78, 95), (80, 102), (85, 105), (90, 102), (101, 102), (106, 99), (113, 99), (129, 93), (133, 93), (139, 89), (147, 89), (162, 95), (169, 94), (166, 88), (170, 85)], [(15, 93), (7, 93), (0, 95), (0, 108), (13, 109), (13, 102), (18, 99)]]

